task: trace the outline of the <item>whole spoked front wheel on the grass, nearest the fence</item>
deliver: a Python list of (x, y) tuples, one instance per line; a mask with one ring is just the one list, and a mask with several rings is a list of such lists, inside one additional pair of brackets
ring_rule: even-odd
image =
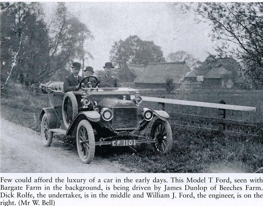
[(157, 119), (152, 125), (151, 139), (157, 141), (152, 143), (154, 151), (160, 153), (170, 152), (173, 144), (173, 135), (169, 122)]

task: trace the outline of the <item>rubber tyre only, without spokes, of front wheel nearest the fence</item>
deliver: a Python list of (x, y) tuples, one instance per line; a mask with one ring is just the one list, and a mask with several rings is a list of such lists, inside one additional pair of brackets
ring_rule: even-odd
[[(160, 153), (162, 153), (162, 154), (169, 153), (171, 151), (172, 145), (173, 145), (173, 134), (172, 134), (171, 126), (167, 120), (166, 121), (163, 121), (161, 119), (155, 120), (155, 122), (152, 125), (152, 129), (151, 129), (151, 134), (150, 134), (151, 139), (154, 139), (153, 132), (154, 132), (154, 125), (156, 125), (156, 124), (163, 124), (163, 126), (165, 127), (165, 130), (166, 130), (166, 147), (165, 147), (165, 150), (163, 152), (160, 152)], [(153, 150), (155, 152), (159, 152), (157, 150), (155, 144), (156, 143), (152, 143)]]

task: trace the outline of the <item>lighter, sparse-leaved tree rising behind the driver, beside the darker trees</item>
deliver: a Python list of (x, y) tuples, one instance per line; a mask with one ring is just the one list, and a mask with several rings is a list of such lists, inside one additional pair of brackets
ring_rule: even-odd
[[(65, 73), (65, 68), (74, 58), (87, 58), (83, 48), (87, 39), (92, 39), (86, 25), (73, 16), (64, 2), (57, 3), (55, 18), (49, 24), (49, 61), (41, 73), (41, 79)], [(83, 64), (84, 65), (84, 64)]]

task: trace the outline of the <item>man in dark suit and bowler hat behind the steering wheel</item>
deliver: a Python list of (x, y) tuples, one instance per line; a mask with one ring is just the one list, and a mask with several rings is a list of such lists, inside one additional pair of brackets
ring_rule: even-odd
[(79, 82), (82, 80), (82, 77), (78, 75), (80, 68), (80, 63), (74, 62), (72, 64), (72, 72), (70, 75), (66, 76), (64, 80), (64, 92), (79, 90)]

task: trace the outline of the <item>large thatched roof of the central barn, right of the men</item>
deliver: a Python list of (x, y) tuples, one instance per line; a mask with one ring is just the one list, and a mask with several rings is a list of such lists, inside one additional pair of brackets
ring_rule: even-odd
[(161, 62), (149, 63), (143, 70), (142, 75), (138, 75), (135, 83), (164, 84), (167, 77), (174, 79), (174, 83), (181, 83), (184, 76), (191, 69), (183, 62)]

